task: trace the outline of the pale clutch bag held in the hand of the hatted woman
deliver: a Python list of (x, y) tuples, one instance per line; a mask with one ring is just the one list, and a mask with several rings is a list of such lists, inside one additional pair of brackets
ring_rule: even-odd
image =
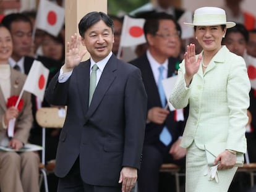
[[(209, 166), (213, 166), (213, 162), (216, 157), (226, 149), (226, 143), (207, 143), (205, 144), (205, 152), (207, 156), (207, 162)], [(242, 167), (244, 165), (244, 154), (236, 154), (236, 167)]]

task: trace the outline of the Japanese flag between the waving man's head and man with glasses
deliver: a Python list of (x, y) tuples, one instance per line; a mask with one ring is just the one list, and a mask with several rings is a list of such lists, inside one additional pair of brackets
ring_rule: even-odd
[(134, 19), (125, 15), (122, 24), (120, 46), (129, 47), (146, 43), (143, 31), (144, 23), (145, 19)]

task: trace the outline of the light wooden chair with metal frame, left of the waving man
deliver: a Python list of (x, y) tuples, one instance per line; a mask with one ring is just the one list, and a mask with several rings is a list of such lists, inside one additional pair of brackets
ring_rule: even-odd
[[(60, 111), (62, 110), (62, 111)], [(63, 111), (64, 110), (64, 111)], [(45, 191), (48, 192), (47, 173), (54, 171), (55, 160), (45, 163), (46, 128), (62, 128), (66, 117), (66, 109), (58, 107), (41, 107), (36, 111), (36, 122), (42, 127), (42, 157), (40, 163), (40, 186), (45, 183)]]

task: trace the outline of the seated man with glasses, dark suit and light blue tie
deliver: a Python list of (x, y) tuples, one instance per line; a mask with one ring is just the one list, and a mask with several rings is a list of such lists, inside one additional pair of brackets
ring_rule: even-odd
[[(163, 90), (160, 90), (161, 80), (176, 75), (179, 68), (179, 60), (172, 57), (176, 55), (181, 43), (179, 29), (172, 15), (147, 15), (143, 30), (148, 50), (130, 62), (141, 70), (148, 96), (143, 158), (138, 177), (140, 192), (157, 192), (161, 164), (175, 162), (186, 154), (186, 149), (179, 147), (179, 137), (184, 129), (183, 111), (169, 111), (166, 107), (166, 98), (161, 97)], [(163, 71), (160, 72), (160, 69)], [(184, 158), (182, 160), (181, 163), (184, 165)], [(170, 182), (168, 185), (171, 186)]]

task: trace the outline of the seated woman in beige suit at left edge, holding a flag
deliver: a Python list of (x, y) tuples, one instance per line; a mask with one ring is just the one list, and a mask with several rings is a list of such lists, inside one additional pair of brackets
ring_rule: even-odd
[[(23, 93), (15, 107), (26, 76), (9, 65), (12, 47), (11, 33), (0, 24), (0, 145), (19, 150), (28, 141), (33, 116), (30, 93)], [(9, 121), (14, 118), (15, 129), (10, 133)], [(39, 162), (35, 152), (0, 151), (1, 192), (39, 192)]]

